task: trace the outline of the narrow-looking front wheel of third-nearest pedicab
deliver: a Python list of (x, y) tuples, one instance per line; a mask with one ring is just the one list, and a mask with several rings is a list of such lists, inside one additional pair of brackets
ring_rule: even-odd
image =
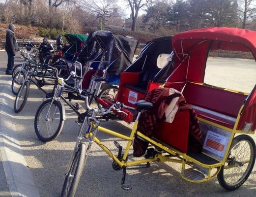
[(19, 113), (25, 106), (29, 94), (29, 83), (24, 82), (24, 85), (20, 87), (16, 99), (14, 102), (14, 111)]

